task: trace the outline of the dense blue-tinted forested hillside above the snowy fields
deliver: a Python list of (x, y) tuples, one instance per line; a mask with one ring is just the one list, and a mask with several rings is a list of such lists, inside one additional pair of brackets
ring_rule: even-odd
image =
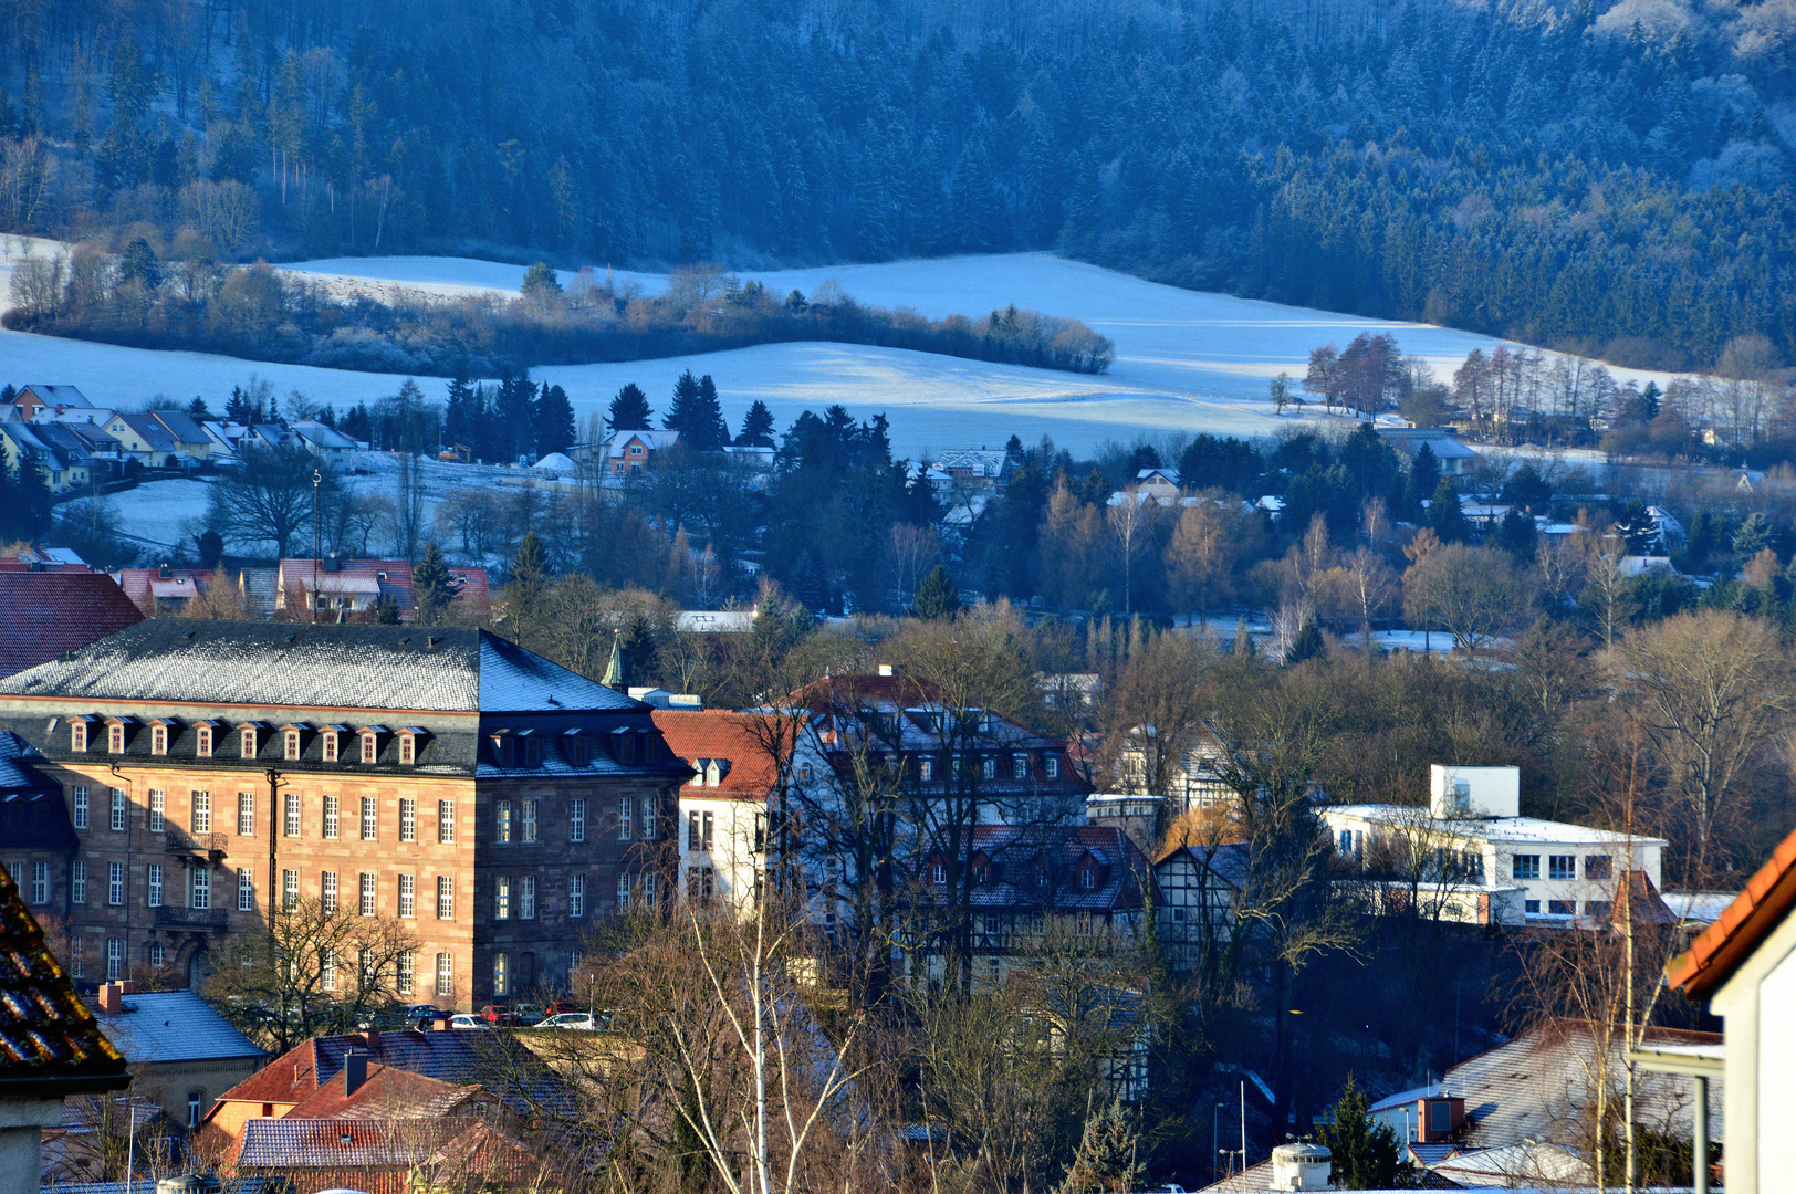
[(1058, 246), (1787, 361), (1796, 5), (1701, 4), (0, 0), (0, 223), (171, 260)]

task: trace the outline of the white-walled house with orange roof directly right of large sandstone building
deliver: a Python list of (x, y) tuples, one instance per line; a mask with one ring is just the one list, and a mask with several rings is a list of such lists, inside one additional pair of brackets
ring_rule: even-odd
[(681, 891), (753, 907), (767, 856), (767, 801), (779, 781), (774, 722), (756, 713), (656, 709), (656, 729), (693, 776), (679, 790)]

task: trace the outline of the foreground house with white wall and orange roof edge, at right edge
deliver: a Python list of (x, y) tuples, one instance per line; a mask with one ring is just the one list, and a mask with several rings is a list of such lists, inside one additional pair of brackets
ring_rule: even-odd
[[(1796, 1174), (1796, 833), (1746, 883), (1665, 977), (1722, 1018), (1717, 1056), (1647, 1058), (1649, 1068), (1683, 1074), (1701, 1090), (1726, 1075), (1728, 1190), (1769, 1194)], [(1694, 1095), (1692, 1095), (1694, 1097)], [(1715, 1133), (1717, 1137), (1722, 1133)], [(1699, 1187), (1701, 1189), (1701, 1187)]]

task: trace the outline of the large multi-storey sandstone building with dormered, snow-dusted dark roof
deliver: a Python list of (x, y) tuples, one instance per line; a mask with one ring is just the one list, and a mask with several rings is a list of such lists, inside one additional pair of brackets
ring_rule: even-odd
[(144, 621), (0, 680), (0, 731), (34, 826), (4, 862), (79, 977), (190, 979), (316, 900), (404, 919), (395, 989), (453, 1007), (557, 989), (665, 892), (691, 774), (648, 706), (485, 630)]

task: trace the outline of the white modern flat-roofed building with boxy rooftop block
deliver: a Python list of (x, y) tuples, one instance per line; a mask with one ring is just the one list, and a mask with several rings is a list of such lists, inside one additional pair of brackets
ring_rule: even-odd
[(1446, 919), (1589, 925), (1613, 914), (1629, 871), (1660, 887), (1665, 838), (1523, 817), (1514, 767), (1437, 763), (1428, 786), (1428, 808), (1336, 804), (1320, 815), (1336, 853), (1383, 873), (1381, 887), (1408, 882), (1457, 903)]

